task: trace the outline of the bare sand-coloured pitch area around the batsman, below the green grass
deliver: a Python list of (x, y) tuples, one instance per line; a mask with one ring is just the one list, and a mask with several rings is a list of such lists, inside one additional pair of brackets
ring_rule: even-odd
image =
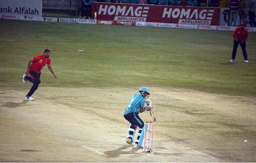
[(255, 97), (149, 88), (147, 153), (125, 144), (138, 88), (39, 87), (26, 101), (29, 88), (0, 88), (0, 162), (256, 162)]

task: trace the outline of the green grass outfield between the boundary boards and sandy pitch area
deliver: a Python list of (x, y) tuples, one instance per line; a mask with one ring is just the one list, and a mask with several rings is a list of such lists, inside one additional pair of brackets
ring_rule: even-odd
[[(40, 86), (177, 87), (256, 96), (256, 33), (234, 63), (232, 32), (0, 20), (0, 86), (24, 86), (28, 60), (51, 50)], [(83, 51), (78, 51), (83, 50)]]

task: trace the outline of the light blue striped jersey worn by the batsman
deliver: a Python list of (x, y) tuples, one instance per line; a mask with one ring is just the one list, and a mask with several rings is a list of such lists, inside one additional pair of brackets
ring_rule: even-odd
[(141, 95), (141, 93), (134, 94), (131, 98), (129, 105), (126, 107), (124, 111), (124, 115), (135, 112), (139, 114), (141, 112), (141, 108), (144, 107), (145, 99)]

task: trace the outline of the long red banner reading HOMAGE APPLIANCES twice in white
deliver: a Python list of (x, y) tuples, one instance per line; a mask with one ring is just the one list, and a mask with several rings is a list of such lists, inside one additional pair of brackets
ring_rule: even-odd
[(220, 8), (92, 3), (97, 20), (122, 22), (159, 22), (192, 25), (219, 25)]

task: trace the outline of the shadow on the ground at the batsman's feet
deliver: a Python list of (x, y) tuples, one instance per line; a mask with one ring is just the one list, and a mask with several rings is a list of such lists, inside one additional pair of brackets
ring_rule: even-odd
[(118, 149), (114, 149), (114, 150), (111, 150), (111, 151), (106, 151), (106, 152), (104, 152), (104, 154), (106, 154), (108, 158), (116, 158), (120, 155), (127, 155), (127, 154), (129, 154), (129, 155), (135, 154), (131, 157), (135, 157), (135, 156), (139, 157), (139, 156), (147, 154), (147, 152), (143, 152), (143, 151), (141, 153), (136, 153), (136, 152), (138, 152), (139, 149), (131, 148), (131, 151), (125, 150), (125, 149), (128, 149), (128, 148), (131, 148), (131, 146), (124, 145), (124, 146), (122, 146)]

